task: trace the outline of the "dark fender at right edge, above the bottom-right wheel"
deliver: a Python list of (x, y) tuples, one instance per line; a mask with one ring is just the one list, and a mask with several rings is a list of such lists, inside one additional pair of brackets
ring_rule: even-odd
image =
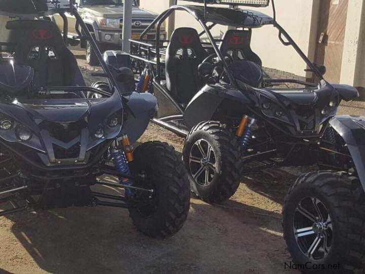
[(330, 124), (345, 141), (365, 190), (365, 117), (336, 116)]

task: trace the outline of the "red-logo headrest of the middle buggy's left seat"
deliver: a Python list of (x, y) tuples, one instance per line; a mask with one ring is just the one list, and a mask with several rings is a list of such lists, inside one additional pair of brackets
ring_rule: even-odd
[(196, 51), (197, 55), (200, 55), (204, 51), (196, 29), (191, 27), (179, 27), (172, 32), (169, 49), (170, 51), (176, 51), (180, 48), (191, 48)]

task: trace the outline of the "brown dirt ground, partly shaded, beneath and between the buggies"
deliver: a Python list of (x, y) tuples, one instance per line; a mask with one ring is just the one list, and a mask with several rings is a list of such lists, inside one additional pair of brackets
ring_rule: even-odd
[[(79, 62), (84, 65), (81, 53)], [(139, 142), (150, 140), (167, 142), (179, 152), (183, 145), (183, 139), (154, 124)], [(284, 269), (290, 256), (280, 219), (295, 178), (283, 170), (249, 175), (221, 205), (192, 197), (185, 226), (163, 241), (139, 233), (123, 209), (0, 217), (0, 273), (294, 272)]]

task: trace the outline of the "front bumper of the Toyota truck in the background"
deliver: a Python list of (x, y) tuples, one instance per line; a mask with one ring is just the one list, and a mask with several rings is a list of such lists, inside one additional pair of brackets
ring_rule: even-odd
[[(133, 31), (132, 29), (132, 39), (138, 40), (141, 32)], [(166, 39), (166, 31), (161, 31), (160, 39)], [(122, 45), (123, 43), (123, 31), (121, 29), (115, 30), (97, 30), (95, 33), (96, 41), (99, 43), (105, 43), (110, 45)], [(149, 32), (148, 35), (143, 37), (144, 39), (156, 39), (156, 32)]]

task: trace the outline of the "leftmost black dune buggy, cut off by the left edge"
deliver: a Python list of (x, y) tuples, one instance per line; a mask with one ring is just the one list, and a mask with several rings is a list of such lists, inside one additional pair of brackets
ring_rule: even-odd
[[(102, 66), (92, 76), (105, 82), (85, 84), (65, 45), (67, 27), (62, 37), (49, 20), (59, 14), (67, 26), (65, 13), (77, 18), (79, 39), (92, 45)], [(179, 231), (190, 200), (184, 165), (165, 143), (131, 146), (153, 117), (156, 98), (129, 92), (132, 71), (104, 62), (72, 0), (0, 0), (0, 14), (10, 17), (2, 26), (8, 39), (0, 43), (0, 216), (105, 205), (128, 209), (146, 235)], [(93, 191), (96, 184), (108, 188)]]

